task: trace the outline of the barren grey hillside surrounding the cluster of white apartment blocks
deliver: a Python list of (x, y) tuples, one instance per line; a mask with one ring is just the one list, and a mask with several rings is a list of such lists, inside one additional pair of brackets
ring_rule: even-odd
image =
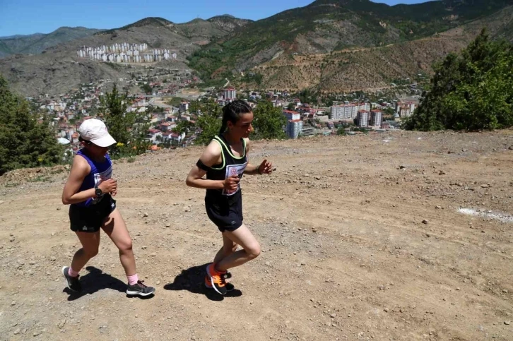
[[(82, 46), (98, 47), (122, 42), (146, 42), (152, 48), (167, 48), (177, 52), (176, 61), (162, 61), (155, 66), (184, 69), (188, 68), (184, 64), (186, 56), (199, 49), (200, 44), (209, 42), (214, 34), (218, 37), (247, 22), (230, 17), (214, 17), (204, 21), (208, 23), (208, 30), (200, 34), (204, 32), (204, 24), (201, 22), (175, 24), (163, 18), (144, 18), (122, 28), (97, 32), (50, 47), (44, 54), (37, 56), (16, 55), (0, 59), (0, 73), (4, 74), (14, 90), (30, 96), (59, 94), (78, 88), (81, 83), (99, 79), (126, 78), (127, 71), (143, 69), (144, 64), (132, 64), (128, 68), (76, 56), (77, 49)], [(212, 35), (208, 35), (208, 32)]]

